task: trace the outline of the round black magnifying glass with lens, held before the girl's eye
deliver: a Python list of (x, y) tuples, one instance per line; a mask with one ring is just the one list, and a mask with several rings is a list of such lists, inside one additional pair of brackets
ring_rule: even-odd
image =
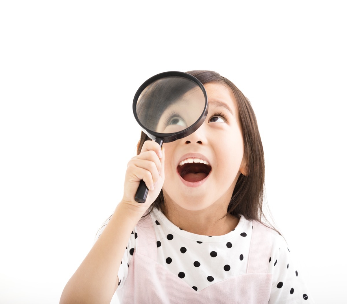
[[(164, 72), (147, 79), (137, 90), (133, 112), (142, 131), (160, 146), (188, 136), (204, 122), (207, 94), (194, 76), (178, 71)], [(143, 180), (135, 201), (144, 203), (148, 188)]]

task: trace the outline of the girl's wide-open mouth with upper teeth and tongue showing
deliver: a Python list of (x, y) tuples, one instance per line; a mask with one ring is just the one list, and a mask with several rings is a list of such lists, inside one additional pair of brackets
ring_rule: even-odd
[(200, 158), (187, 158), (178, 164), (177, 171), (185, 181), (195, 183), (210, 174), (211, 166)]

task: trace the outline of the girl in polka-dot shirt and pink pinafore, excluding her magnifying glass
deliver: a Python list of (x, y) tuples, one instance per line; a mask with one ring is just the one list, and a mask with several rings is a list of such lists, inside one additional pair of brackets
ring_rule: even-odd
[(123, 198), (60, 303), (110, 303), (116, 290), (121, 303), (313, 303), (285, 240), (261, 221), (251, 104), (218, 73), (188, 73), (206, 89), (206, 120), (162, 149), (141, 134)]

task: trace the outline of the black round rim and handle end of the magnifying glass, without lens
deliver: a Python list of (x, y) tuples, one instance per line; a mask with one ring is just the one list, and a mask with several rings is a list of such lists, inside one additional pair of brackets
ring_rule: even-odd
[[(141, 121), (138, 119), (137, 112), (136, 112), (137, 101), (138, 101), (138, 98), (141, 95), (142, 91), (145, 90), (145, 88), (147, 86), (149, 86), (151, 83), (157, 81), (158, 79), (166, 78), (166, 77), (182, 77), (182, 78), (187, 78), (187, 79), (195, 82), (200, 87), (201, 91), (204, 94), (204, 98), (205, 98), (204, 109), (203, 109), (200, 117), (195, 121), (195, 123), (192, 124), (191, 126), (189, 126), (188, 128), (181, 130), (179, 132), (175, 132), (175, 133), (158, 133), (158, 132), (154, 132), (153, 130), (146, 128), (141, 123)], [(135, 116), (137, 123), (140, 125), (142, 131), (149, 138), (151, 138), (156, 143), (158, 143), (160, 145), (160, 147), (162, 146), (163, 143), (169, 143), (169, 142), (178, 140), (180, 138), (186, 137), (186, 136), (194, 133), (205, 121), (205, 118), (206, 118), (207, 113), (208, 113), (208, 108), (209, 108), (209, 105), (208, 105), (208, 100), (207, 100), (207, 93), (206, 93), (205, 87), (200, 82), (200, 80), (198, 80), (196, 77), (194, 77), (191, 74), (188, 74), (185, 72), (179, 72), (179, 71), (163, 72), (163, 73), (156, 74), (156, 75), (152, 76), (151, 78), (147, 79), (138, 88), (138, 90), (135, 93), (134, 100), (133, 100), (133, 113), (134, 113), (134, 116)], [(148, 194), (148, 188), (147, 188), (145, 182), (143, 180), (141, 180), (140, 185), (138, 186), (138, 189), (137, 189), (137, 192), (135, 195), (135, 201), (138, 203), (144, 203), (146, 201), (147, 194)]]

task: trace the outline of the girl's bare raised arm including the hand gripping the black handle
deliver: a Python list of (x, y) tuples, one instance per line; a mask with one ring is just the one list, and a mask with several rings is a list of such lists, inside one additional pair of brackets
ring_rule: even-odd
[[(110, 303), (118, 287), (116, 274), (129, 236), (162, 188), (164, 157), (161, 156), (160, 146), (154, 141), (147, 141), (141, 153), (130, 160), (123, 199), (117, 205), (103, 233), (67, 282), (60, 304)], [(146, 202), (140, 204), (134, 197), (142, 179), (150, 191)]]

